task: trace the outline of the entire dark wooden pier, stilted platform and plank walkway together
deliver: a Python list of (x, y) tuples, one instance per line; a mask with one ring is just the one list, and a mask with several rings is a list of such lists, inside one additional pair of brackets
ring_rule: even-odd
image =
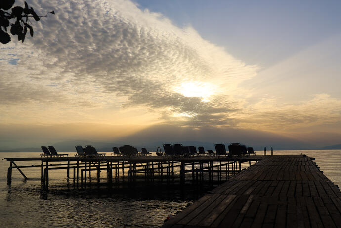
[[(91, 171), (106, 171), (107, 181), (119, 176), (133, 182), (136, 176), (154, 181), (200, 182), (226, 178), (192, 205), (172, 217), (165, 228), (293, 228), (341, 227), (341, 193), (314, 162), (305, 155), (291, 156), (98, 156), (59, 158), (6, 158), (12, 169), (40, 167), (42, 186), (49, 185), (49, 172), (73, 171), (75, 186), (86, 187)], [(40, 165), (18, 166), (21, 161), (39, 161)], [(242, 169), (242, 164), (249, 168)], [(245, 166), (244, 166), (245, 167)], [(204, 175), (205, 174), (205, 175)], [(95, 178), (95, 177), (93, 177)], [(71, 179), (71, 178), (70, 178)]]

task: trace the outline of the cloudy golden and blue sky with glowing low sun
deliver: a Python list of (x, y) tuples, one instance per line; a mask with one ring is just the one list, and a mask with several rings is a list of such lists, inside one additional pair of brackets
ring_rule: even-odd
[(0, 46), (1, 148), (341, 143), (340, 1), (27, 2), (56, 14)]

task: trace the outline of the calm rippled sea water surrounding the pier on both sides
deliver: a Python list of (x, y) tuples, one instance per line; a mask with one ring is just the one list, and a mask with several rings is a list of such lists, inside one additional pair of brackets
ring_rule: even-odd
[[(301, 153), (315, 157), (324, 174), (341, 186), (341, 150), (274, 151), (275, 155)], [(43, 190), (40, 168), (24, 168), (29, 179), (24, 181), (13, 169), (12, 184), (7, 186), (9, 162), (2, 159), (39, 154), (0, 153), (0, 227), (160, 227), (167, 216), (183, 210), (217, 185), (204, 182), (181, 188), (176, 181), (142, 180), (133, 186), (122, 181), (108, 187), (106, 172), (102, 172), (99, 184), (94, 173), (90, 184), (82, 189), (66, 179), (66, 170), (53, 170), (49, 173), (49, 190)], [(32, 164), (39, 163), (17, 162)]]

